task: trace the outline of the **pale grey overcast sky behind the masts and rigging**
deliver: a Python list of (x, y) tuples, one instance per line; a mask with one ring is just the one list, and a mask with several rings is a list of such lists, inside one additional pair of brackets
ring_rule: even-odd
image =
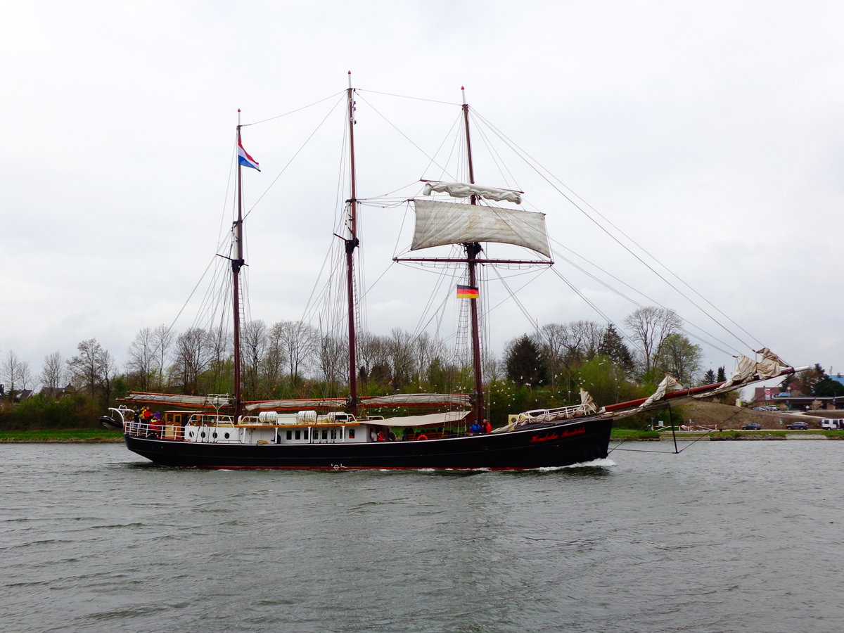
[[(749, 346), (844, 370), (841, 24), (834, 2), (3, 2), (0, 358), (12, 350), (37, 375), (46, 354), (69, 358), (97, 338), (125, 362), (138, 330), (169, 325), (214, 257), (237, 109), (259, 122), (339, 95), (351, 70), (361, 197), (425, 168), (417, 154), (402, 173), (409, 144), (387, 138), (367, 106), (401, 118), (410, 104), (420, 118), (405, 122), (429, 151), (459, 112), (377, 93), (458, 104), (465, 85), (473, 111), (744, 328)], [(245, 174), (247, 207), (317, 120), (244, 129), (262, 165)], [(252, 317), (302, 314), (333, 239), (335, 209), (320, 200), (336, 197), (335, 147), (255, 205)], [(489, 176), (478, 181), (502, 184)], [(547, 184), (518, 184), (555, 240), (722, 336)], [(394, 251), (388, 231), (408, 220), (368, 213), (372, 250), (385, 252), (383, 267), (366, 264), (373, 282)], [(559, 258), (556, 268), (614, 322), (635, 309)], [(371, 330), (417, 327), (408, 288), (379, 282)], [(603, 321), (552, 274), (527, 292), (540, 325)], [(494, 349), (530, 329), (500, 314)], [(705, 353), (732, 370), (732, 347)]]

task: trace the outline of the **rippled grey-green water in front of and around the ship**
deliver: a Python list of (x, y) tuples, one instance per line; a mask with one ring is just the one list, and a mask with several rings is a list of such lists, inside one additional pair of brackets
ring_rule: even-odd
[(840, 631), (842, 452), (296, 473), (0, 445), (0, 630)]

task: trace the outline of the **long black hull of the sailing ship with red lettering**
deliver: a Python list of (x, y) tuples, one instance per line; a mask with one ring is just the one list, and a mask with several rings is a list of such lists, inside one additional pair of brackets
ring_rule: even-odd
[(125, 436), (154, 463), (196, 468), (490, 468), (571, 466), (607, 457), (612, 422), (583, 419), (442, 440), (334, 444), (206, 444)]

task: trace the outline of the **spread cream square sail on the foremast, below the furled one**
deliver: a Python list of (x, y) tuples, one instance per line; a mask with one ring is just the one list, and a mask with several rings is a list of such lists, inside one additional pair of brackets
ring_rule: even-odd
[(551, 257), (545, 214), (474, 204), (414, 200), (416, 229), (411, 251), (430, 246), (495, 241), (525, 246)]

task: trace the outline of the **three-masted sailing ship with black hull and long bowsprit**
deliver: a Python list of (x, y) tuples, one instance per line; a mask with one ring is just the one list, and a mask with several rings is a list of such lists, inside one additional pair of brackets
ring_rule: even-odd
[[(349, 74), (348, 233), (344, 236), (348, 322), (347, 398), (244, 402), (241, 398), (241, 289), (243, 255), (243, 167), (257, 162), (243, 149), (237, 126), (237, 213), (232, 227), (234, 251), (229, 257), (233, 289), (234, 393), (207, 397), (132, 392), (124, 404), (101, 420), (124, 432), (127, 448), (154, 463), (204, 468), (553, 468), (592, 463), (607, 457), (610, 430), (619, 417), (668, 401), (711, 397), (752, 381), (784, 376), (795, 370), (776, 354), (762, 350), (762, 360), (742, 358), (728, 381), (687, 389), (670, 376), (650, 398), (599, 408), (587, 392), (581, 403), (541, 408), (511, 415), (511, 422), (492, 432), (473, 432), (473, 421), (487, 417), (482, 373), (478, 306), (478, 267), (553, 264), (544, 214), (491, 203), (521, 203), (522, 192), (475, 183), (469, 127), (469, 106), (463, 95), (463, 133), (468, 182), (425, 181), (413, 200), (415, 230), (411, 251), (453, 245), (460, 257), (395, 257), (396, 261), (442, 263), (463, 268), (458, 296), (468, 299), (473, 389), (470, 393), (406, 393), (378, 397), (358, 392), (354, 306), (354, 252), (357, 191), (354, 170), (354, 89)], [(436, 194), (463, 202), (445, 202)], [(492, 258), (484, 244), (522, 246), (538, 259)], [(163, 419), (143, 419), (133, 407), (168, 407)], [(367, 411), (377, 407), (436, 406), (445, 412), (384, 419)], [(400, 434), (402, 437), (397, 437)]]

